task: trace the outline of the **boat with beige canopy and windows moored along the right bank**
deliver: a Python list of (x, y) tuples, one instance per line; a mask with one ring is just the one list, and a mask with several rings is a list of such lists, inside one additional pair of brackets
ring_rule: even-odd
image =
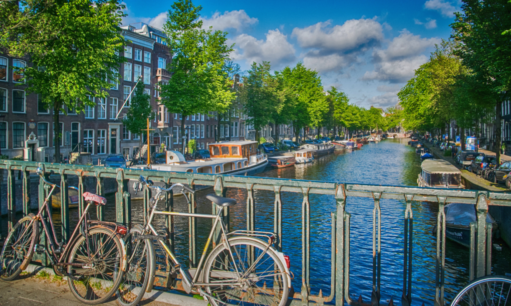
[(419, 187), (463, 189), (461, 171), (448, 161), (427, 159), (421, 164)]

